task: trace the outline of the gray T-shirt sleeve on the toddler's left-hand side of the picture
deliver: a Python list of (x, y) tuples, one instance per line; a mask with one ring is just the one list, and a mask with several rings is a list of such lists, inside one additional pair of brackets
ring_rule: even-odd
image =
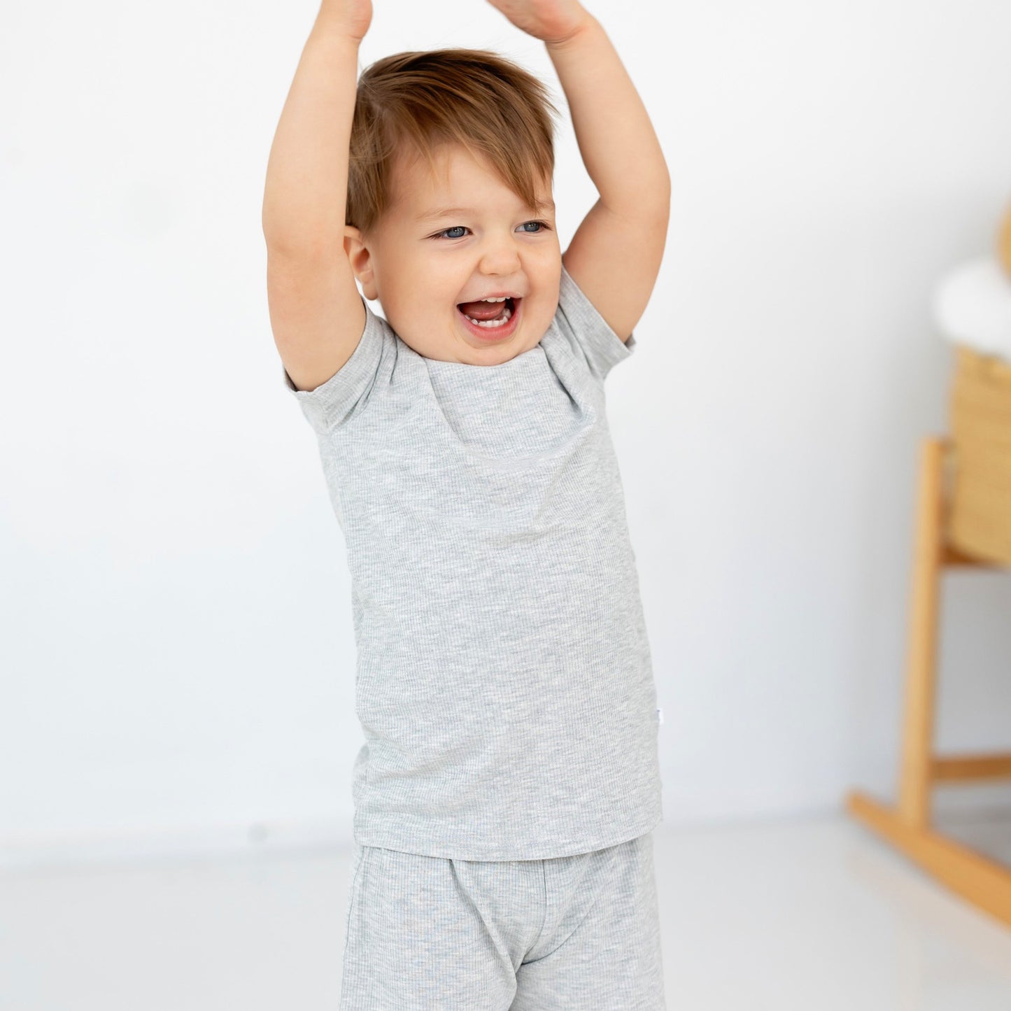
[(396, 361), (396, 335), (381, 316), (365, 305), (365, 330), (344, 365), (314, 389), (296, 389), (286, 369), (284, 385), (319, 434), (333, 432), (360, 415), (382, 388), (378, 380), (392, 373)]

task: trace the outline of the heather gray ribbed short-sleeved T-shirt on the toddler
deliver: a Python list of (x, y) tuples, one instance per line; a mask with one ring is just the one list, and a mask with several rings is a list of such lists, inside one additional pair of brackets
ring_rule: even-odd
[(424, 358), (366, 309), (327, 382), (284, 373), (352, 577), (356, 842), (523, 860), (648, 832), (656, 691), (604, 393), (635, 338), (565, 272), (500, 365)]

